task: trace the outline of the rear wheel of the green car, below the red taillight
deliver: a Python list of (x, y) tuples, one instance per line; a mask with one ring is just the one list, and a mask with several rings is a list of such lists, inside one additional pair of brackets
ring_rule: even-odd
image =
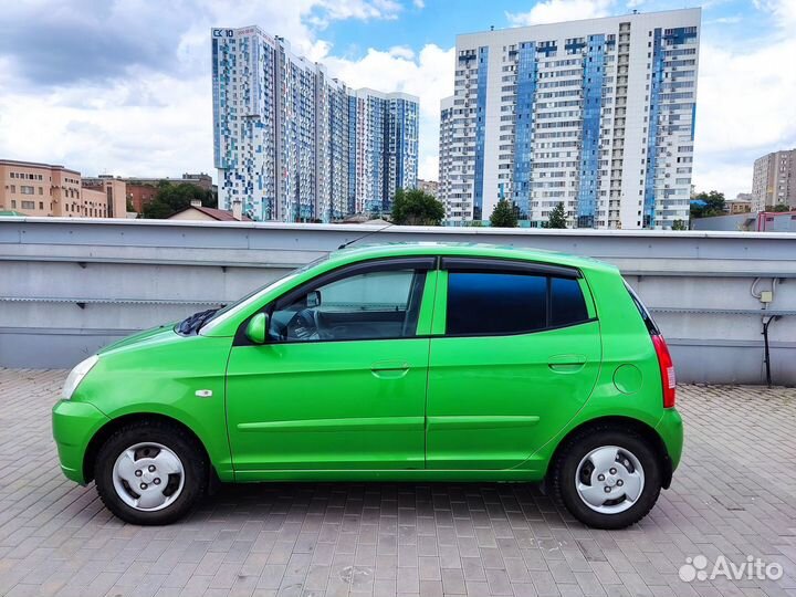
[(586, 429), (563, 447), (552, 484), (554, 496), (582, 523), (625, 528), (643, 519), (658, 501), (660, 459), (649, 441), (631, 430)]

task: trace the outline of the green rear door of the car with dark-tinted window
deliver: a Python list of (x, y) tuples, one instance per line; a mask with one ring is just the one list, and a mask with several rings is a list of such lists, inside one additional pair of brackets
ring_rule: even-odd
[(577, 270), (442, 260), (429, 359), (427, 468), (517, 467), (588, 399), (599, 323)]

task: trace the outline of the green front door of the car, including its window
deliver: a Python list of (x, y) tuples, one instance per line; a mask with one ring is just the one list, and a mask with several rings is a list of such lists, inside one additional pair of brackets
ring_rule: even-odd
[(227, 374), (238, 478), (423, 468), (434, 264), (387, 259), (322, 274), (265, 307), (265, 344), (238, 335)]

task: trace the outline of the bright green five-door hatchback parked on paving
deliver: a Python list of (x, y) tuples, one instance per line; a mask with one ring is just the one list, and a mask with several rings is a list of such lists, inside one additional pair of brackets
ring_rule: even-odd
[(599, 528), (682, 450), (667, 345), (616, 268), (478, 244), (345, 249), (85, 359), (64, 474), (136, 524), (214, 482), (544, 481)]

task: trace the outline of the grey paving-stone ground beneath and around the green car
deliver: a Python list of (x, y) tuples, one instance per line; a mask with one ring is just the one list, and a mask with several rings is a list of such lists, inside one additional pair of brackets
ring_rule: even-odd
[[(795, 389), (680, 387), (683, 462), (626, 531), (496, 483), (228, 486), (137, 527), (61, 475), (49, 410), (64, 375), (0, 369), (0, 595), (796, 596)], [(784, 576), (681, 580), (700, 554)]]

